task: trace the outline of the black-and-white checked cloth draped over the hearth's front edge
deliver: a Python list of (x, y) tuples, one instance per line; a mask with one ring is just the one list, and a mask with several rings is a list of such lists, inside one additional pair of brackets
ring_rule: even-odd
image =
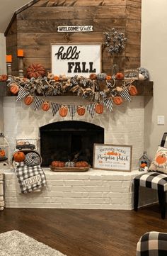
[(27, 166), (24, 162), (19, 162), (15, 171), (23, 194), (41, 189), (46, 185), (45, 173), (40, 165)]

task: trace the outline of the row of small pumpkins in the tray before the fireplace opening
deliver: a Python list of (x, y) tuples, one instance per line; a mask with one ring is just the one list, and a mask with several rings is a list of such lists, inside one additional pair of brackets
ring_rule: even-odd
[(62, 162), (62, 161), (53, 161), (51, 163), (51, 167), (89, 167), (88, 162), (86, 161), (79, 161), (79, 162), (73, 162), (73, 161), (68, 161), (68, 162)]

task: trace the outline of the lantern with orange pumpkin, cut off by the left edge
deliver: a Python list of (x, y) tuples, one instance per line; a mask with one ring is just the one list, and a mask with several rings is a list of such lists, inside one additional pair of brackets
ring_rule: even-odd
[(0, 168), (9, 167), (9, 145), (3, 133), (0, 133)]

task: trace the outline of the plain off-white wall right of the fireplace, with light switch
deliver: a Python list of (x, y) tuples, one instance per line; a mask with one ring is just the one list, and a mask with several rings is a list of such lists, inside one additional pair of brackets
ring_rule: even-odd
[[(154, 81), (154, 97), (145, 99), (144, 148), (154, 157), (164, 131), (167, 131), (166, 56), (167, 1), (142, 0), (141, 67), (149, 69)], [(157, 124), (157, 116), (165, 116), (165, 125)]]

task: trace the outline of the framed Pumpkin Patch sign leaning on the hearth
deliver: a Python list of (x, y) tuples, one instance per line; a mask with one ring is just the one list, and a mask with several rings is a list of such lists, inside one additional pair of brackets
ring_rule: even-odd
[(132, 145), (94, 144), (93, 169), (131, 172)]

